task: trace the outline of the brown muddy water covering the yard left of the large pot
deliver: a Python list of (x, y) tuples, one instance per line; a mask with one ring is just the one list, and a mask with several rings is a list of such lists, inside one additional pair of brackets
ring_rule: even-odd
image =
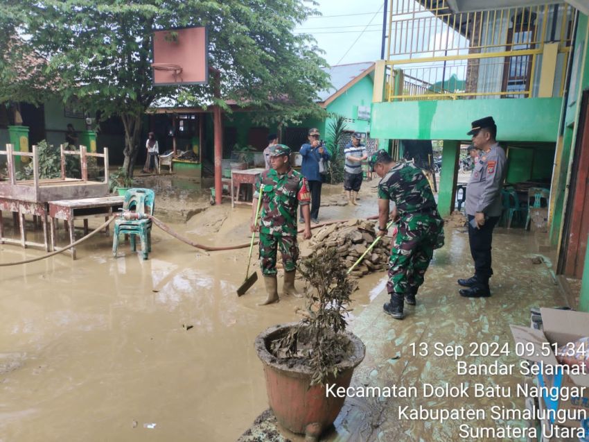
[[(162, 192), (170, 199), (171, 191)], [(319, 216), (375, 214), (368, 199), (359, 207), (322, 207)], [(202, 197), (188, 194), (181, 205), (195, 200)], [(157, 199), (156, 216), (160, 208), (193, 241), (249, 241), (250, 207), (210, 207), (187, 223), (174, 223), (177, 207), (166, 207)], [(58, 234), (64, 244), (64, 229)], [(297, 320), (303, 300), (258, 307), (261, 280), (238, 298), (247, 249), (204, 255), (157, 228), (152, 237), (147, 261), (122, 242), (115, 259), (112, 237), (96, 235), (77, 249), (76, 261), (62, 254), (0, 268), (1, 442), (235, 441), (267, 407), (254, 339), (270, 325)], [(0, 262), (42, 253), (3, 244)], [(382, 278), (362, 278), (351, 321)]]

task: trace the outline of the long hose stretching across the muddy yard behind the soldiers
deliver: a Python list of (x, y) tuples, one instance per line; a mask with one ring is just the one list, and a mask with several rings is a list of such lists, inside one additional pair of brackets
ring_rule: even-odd
[[(115, 216), (112, 216), (112, 218), (110, 218), (108, 221), (106, 221), (105, 223), (103, 223), (101, 226), (99, 226), (98, 228), (96, 228), (95, 230), (92, 230), (88, 235), (86, 235), (83, 238), (78, 239), (78, 241), (74, 241), (72, 244), (69, 244), (68, 246), (65, 246), (63, 248), (60, 248), (60, 250), (55, 250), (51, 253), (47, 253), (46, 255), (42, 255), (42, 256), (38, 256), (36, 258), (31, 258), (30, 260), (24, 260), (24, 261), (16, 261), (16, 262), (5, 262), (5, 263), (1, 263), (0, 262), (0, 267), (7, 267), (7, 266), (17, 266), (20, 264), (29, 264), (30, 262), (35, 262), (35, 261), (40, 261), (40, 260), (44, 260), (45, 258), (49, 258), (52, 257), (54, 255), (58, 255), (59, 253), (63, 253), (66, 250), (69, 250), (72, 247), (78, 246), (78, 244), (82, 244), (82, 242), (86, 241), (87, 239), (89, 239), (90, 237), (93, 237), (94, 235), (96, 235), (96, 233), (100, 232), (100, 230), (103, 230), (104, 228), (106, 228), (107, 226), (109, 226), (110, 223), (112, 223), (112, 221), (114, 221), (117, 217), (124, 217), (125, 214), (121, 213)], [(184, 242), (185, 244), (188, 244), (188, 246), (193, 246), (194, 248), (198, 248), (200, 250), (203, 250), (204, 253), (206, 252), (216, 252), (216, 251), (220, 251), (220, 250), (235, 250), (237, 248), (247, 248), (249, 247), (250, 243), (244, 243), (244, 244), (238, 244), (236, 246), (222, 246), (222, 247), (215, 247), (215, 246), (206, 246), (204, 244), (198, 244), (195, 243), (194, 241), (191, 241), (190, 239), (183, 237), (182, 235), (179, 235), (178, 233), (174, 232), (172, 229), (170, 229), (168, 226), (166, 226), (165, 223), (163, 223), (162, 221), (160, 221), (159, 219), (157, 219), (155, 216), (152, 215), (143, 215), (146, 218), (149, 218), (153, 221), (153, 223), (161, 228), (161, 230), (164, 230), (164, 232), (168, 233), (168, 235), (171, 235), (173, 237), (175, 237), (176, 239), (178, 239), (179, 241)], [(369, 216), (367, 219), (376, 219), (378, 218), (378, 216)], [(339, 219), (336, 221), (326, 221), (324, 223), (318, 223), (315, 224), (313, 226), (311, 226), (311, 229), (316, 229), (316, 228), (320, 228), (320, 227), (324, 227), (324, 226), (329, 226), (330, 224), (335, 224), (335, 223), (344, 223), (348, 220), (346, 219)], [(304, 228), (299, 229), (298, 232), (302, 233), (304, 232)], [(258, 241), (254, 241), (254, 244), (258, 244)], [(208, 255), (208, 253), (206, 253)]]

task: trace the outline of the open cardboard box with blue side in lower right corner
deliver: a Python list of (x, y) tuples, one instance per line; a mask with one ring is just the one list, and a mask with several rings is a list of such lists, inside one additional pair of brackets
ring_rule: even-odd
[[(553, 343), (563, 346), (567, 343), (577, 341), (581, 337), (589, 336), (589, 313), (573, 312), (571, 310), (559, 309), (540, 309), (542, 316), (543, 330), (534, 328), (521, 327), (519, 325), (510, 325), (511, 334), (516, 341), (516, 348), (524, 350), (525, 354), (521, 355), (522, 359), (538, 362), (544, 367), (556, 366), (559, 362), (554, 355)], [(527, 351), (534, 348), (532, 351)], [(550, 348), (550, 354), (547, 349)], [(589, 350), (589, 349), (587, 349)], [(538, 374), (538, 386), (556, 387), (559, 391), (569, 389), (571, 386), (583, 386), (584, 394), (577, 398), (563, 400), (551, 400), (547, 395), (543, 395), (543, 402), (546, 409), (554, 411), (559, 409), (585, 409), (589, 416), (589, 374), (577, 375), (560, 373), (555, 375)], [(586, 371), (587, 372), (587, 371)], [(554, 421), (552, 422), (554, 423)], [(578, 427), (581, 425), (579, 420), (567, 420), (567, 427)]]

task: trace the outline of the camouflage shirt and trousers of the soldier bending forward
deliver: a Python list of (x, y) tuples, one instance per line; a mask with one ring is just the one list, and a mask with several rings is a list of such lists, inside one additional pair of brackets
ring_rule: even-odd
[(416, 293), (434, 249), (443, 246), (443, 221), (428, 178), (419, 167), (400, 162), (378, 184), (378, 198), (394, 201), (398, 232), (389, 260), (389, 294)]

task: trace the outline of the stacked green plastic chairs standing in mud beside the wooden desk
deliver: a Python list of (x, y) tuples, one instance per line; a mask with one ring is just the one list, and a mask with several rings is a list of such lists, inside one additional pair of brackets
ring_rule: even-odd
[[(155, 208), (155, 192), (152, 189), (133, 188), (125, 193), (123, 210), (153, 215)], [(114, 234), (112, 235), (112, 254), (116, 257), (118, 237), (121, 234), (129, 235), (131, 250), (137, 250), (135, 235), (141, 241), (141, 254), (143, 260), (148, 259), (151, 252), (151, 219), (116, 219), (114, 221)]]

